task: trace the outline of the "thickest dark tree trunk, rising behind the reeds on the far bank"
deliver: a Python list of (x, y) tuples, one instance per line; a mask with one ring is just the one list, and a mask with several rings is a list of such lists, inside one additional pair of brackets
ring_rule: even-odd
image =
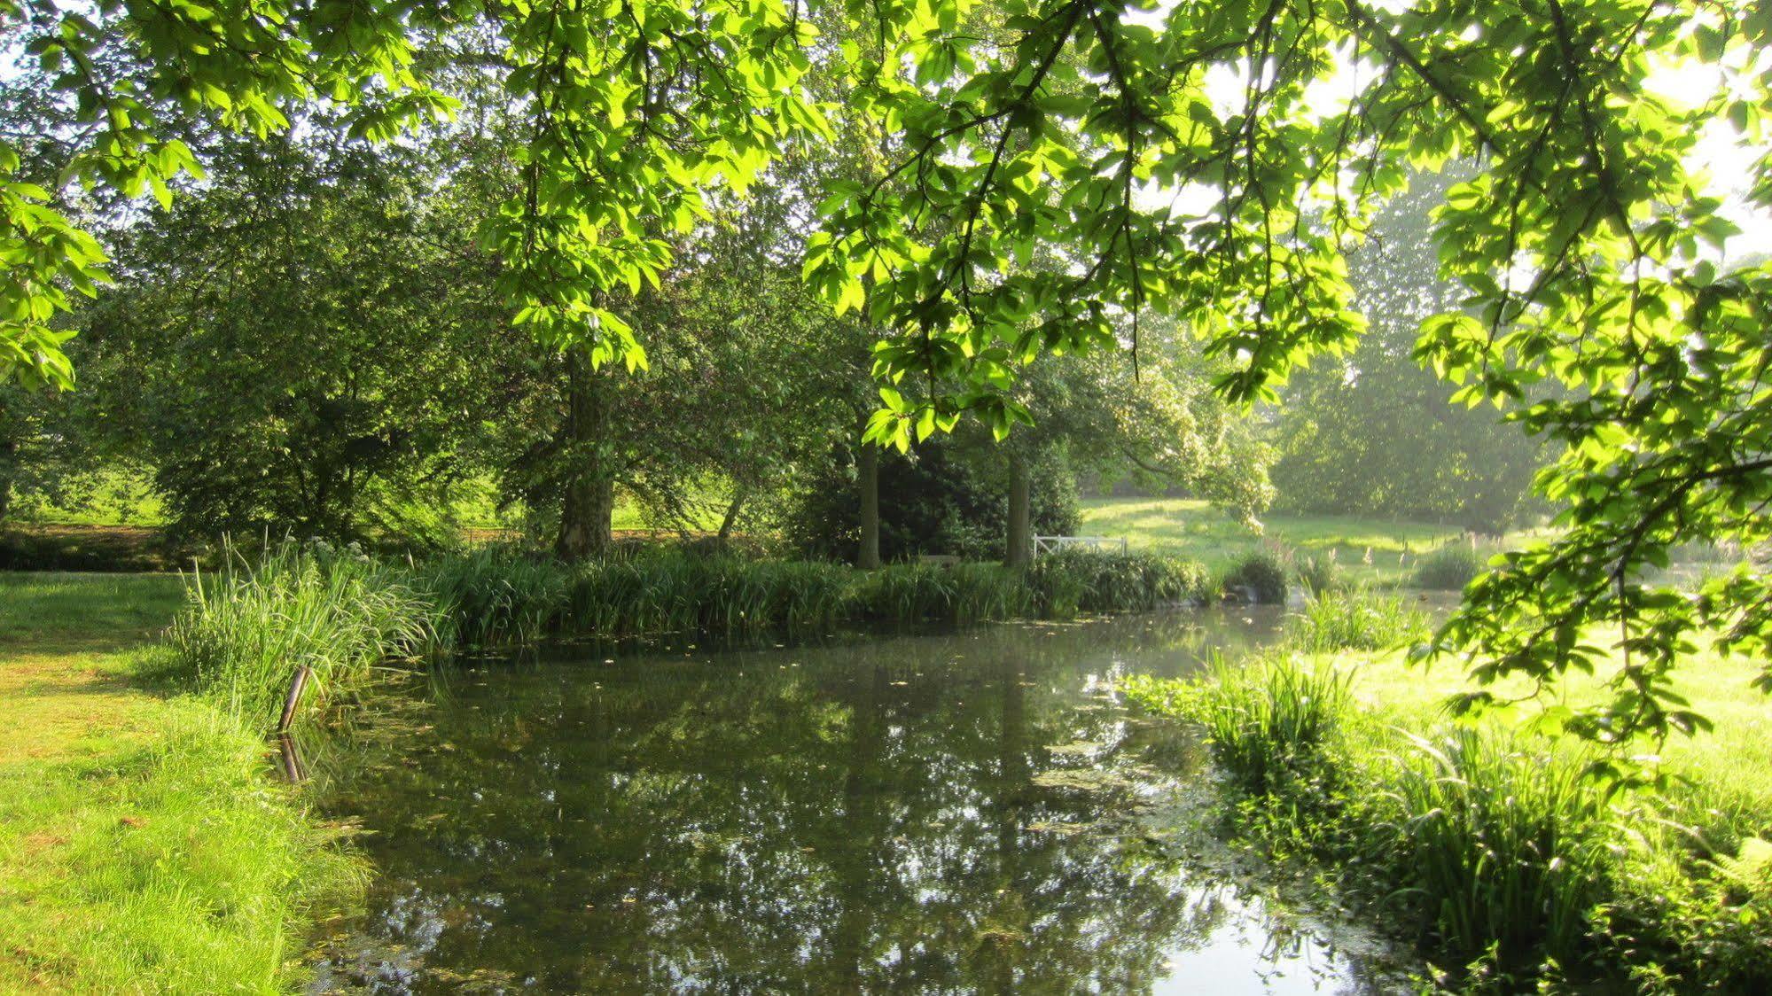
[(562, 560), (585, 560), (610, 549), (615, 525), (615, 473), (604, 450), (599, 374), (590, 369), (588, 360), (569, 351), (565, 377), (567, 415), (562, 425), (565, 475), (555, 553)]

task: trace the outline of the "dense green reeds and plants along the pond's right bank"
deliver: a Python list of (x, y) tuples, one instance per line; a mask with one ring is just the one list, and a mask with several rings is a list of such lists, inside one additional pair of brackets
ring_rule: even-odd
[(1728, 799), (1726, 766), (1616, 790), (1531, 727), (1363, 702), (1368, 658), (1325, 652), (1396, 645), (1421, 620), (1370, 595), (1318, 603), (1253, 661), (1125, 682), (1203, 730), (1237, 840), (1396, 925), (1453, 966), (1453, 991), (1772, 989), (1768, 813)]

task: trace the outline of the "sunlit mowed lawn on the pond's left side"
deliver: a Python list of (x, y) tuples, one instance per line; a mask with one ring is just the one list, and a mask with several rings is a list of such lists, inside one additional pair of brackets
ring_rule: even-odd
[(154, 693), (167, 574), (0, 574), (0, 992), (268, 992), (361, 888), (266, 743)]

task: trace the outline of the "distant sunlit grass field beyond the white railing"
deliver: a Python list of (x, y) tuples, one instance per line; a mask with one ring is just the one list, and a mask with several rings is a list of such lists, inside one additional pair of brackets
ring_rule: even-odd
[(1083, 502), (1083, 532), (1125, 537), (1134, 549), (1162, 549), (1216, 567), (1233, 564), (1263, 544), (1311, 556), (1334, 551), (1343, 569), (1366, 580), (1400, 578), (1419, 555), (1462, 541), (1457, 526), (1356, 516), (1262, 516), (1262, 532), (1255, 533), (1193, 498), (1088, 498)]

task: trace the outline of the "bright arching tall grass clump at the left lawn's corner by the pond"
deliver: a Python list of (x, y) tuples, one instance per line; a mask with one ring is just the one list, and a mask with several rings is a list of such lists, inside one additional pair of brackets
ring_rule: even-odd
[(361, 684), (370, 668), (439, 645), (438, 603), (395, 567), (353, 549), (284, 542), (248, 558), (229, 549), (198, 572), (167, 631), (181, 670), (225, 711), (269, 725), (298, 668), (303, 696)]

